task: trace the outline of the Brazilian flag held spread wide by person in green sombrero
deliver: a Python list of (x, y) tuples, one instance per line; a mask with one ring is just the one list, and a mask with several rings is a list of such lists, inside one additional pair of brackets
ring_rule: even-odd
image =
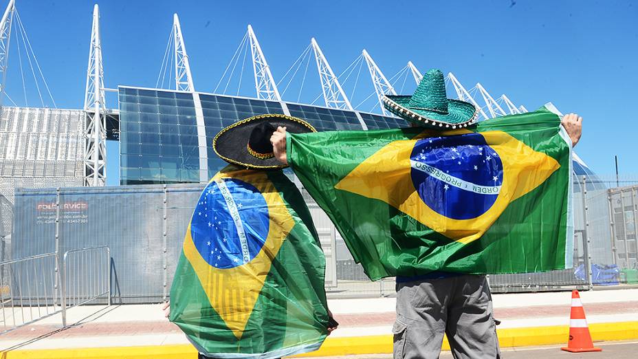
[(288, 162), (373, 279), (571, 268), (571, 140), (547, 109), (287, 135)]

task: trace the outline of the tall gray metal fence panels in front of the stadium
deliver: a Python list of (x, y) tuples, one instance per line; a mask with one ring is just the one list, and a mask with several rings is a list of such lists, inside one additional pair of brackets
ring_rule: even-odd
[[(638, 186), (608, 188), (612, 185), (589, 177), (573, 184), (574, 269), (491, 275), (493, 291), (586, 289), (591, 285), (634, 283)], [(202, 184), (175, 184), (17, 190), (10, 211), (14, 219), (10, 252), (14, 258), (23, 258), (56, 249), (63, 253), (108, 246), (109, 292), (115, 303), (164, 301), (202, 189)], [(305, 199), (327, 257), (329, 296), (394, 294), (395, 281), (369, 281), (325, 213), (307, 194)], [(76, 255), (79, 253), (69, 254)], [(99, 267), (103, 268), (103, 263)], [(69, 303), (89, 298), (91, 303), (107, 303), (102, 285), (98, 284), (98, 290), (82, 288), (78, 285), (79, 292), (69, 293), (73, 298)]]

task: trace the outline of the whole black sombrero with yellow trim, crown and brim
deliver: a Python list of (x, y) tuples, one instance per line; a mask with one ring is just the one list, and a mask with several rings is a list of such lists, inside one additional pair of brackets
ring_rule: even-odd
[(279, 162), (272, 151), (270, 136), (277, 127), (289, 133), (316, 132), (308, 122), (292, 116), (267, 114), (235, 122), (222, 129), (212, 140), (212, 149), (222, 160), (251, 169), (278, 169)]

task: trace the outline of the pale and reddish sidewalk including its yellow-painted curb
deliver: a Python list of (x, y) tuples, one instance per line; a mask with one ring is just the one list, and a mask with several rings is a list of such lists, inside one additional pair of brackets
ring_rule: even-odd
[[(638, 290), (581, 292), (594, 340), (638, 338)], [(340, 323), (308, 356), (390, 353), (395, 298), (329, 300)], [(570, 292), (494, 294), (502, 347), (560, 344), (569, 332)], [(0, 336), (2, 358), (196, 358), (159, 305), (76, 307)], [(447, 344), (444, 344), (444, 347)]]

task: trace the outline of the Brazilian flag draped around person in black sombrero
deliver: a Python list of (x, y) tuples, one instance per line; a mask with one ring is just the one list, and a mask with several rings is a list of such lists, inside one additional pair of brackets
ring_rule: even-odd
[(279, 358), (327, 336), (325, 257), (281, 171), (227, 166), (201, 193), (170, 289), (170, 321), (212, 358)]

